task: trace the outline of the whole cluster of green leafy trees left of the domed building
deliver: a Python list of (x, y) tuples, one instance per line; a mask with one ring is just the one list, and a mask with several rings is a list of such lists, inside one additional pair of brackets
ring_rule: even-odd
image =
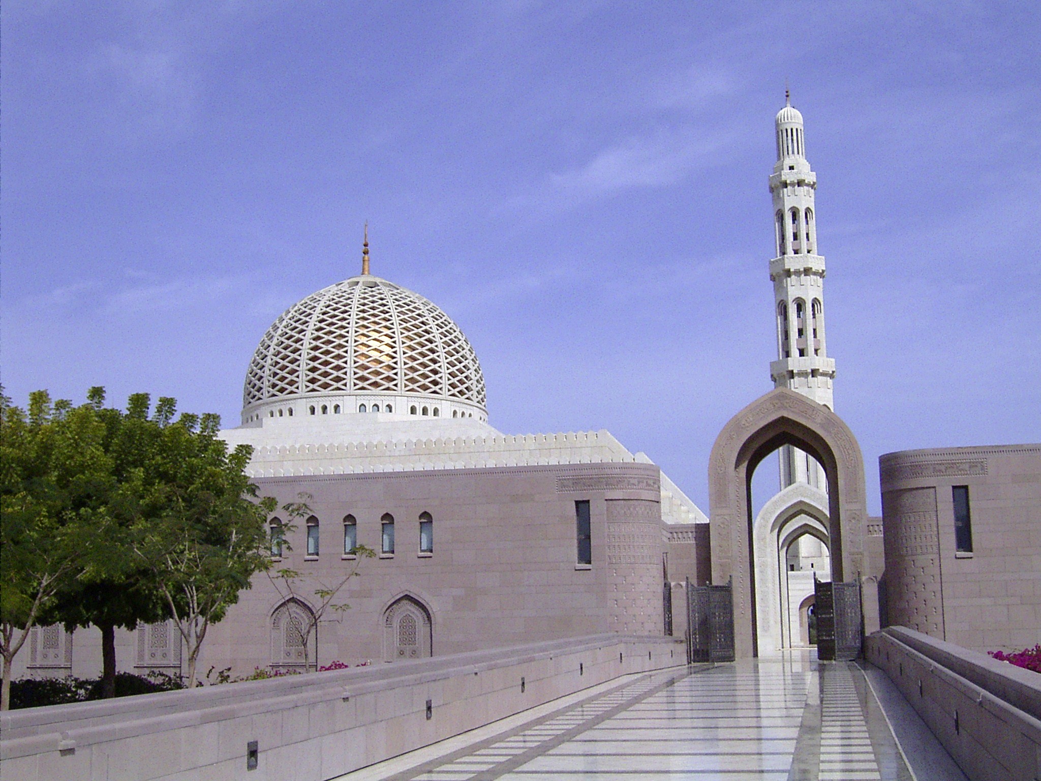
[[(172, 619), (195, 685), (207, 630), (271, 568), (275, 501), (246, 475), (250, 448), (229, 452), (218, 415), (175, 420), (176, 406), (135, 394), (108, 407), (94, 387), (79, 406), (36, 392), (23, 410), (0, 393), (0, 708), (16, 655), (50, 624), (101, 630), (112, 697), (116, 629)], [(290, 591), (296, 576), (281, 573)]]

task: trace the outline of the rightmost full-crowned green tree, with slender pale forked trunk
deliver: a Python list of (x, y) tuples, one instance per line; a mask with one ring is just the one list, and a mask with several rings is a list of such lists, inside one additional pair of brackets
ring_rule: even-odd
[(160, 400), (155, 422), (161, 429), (150, 469), (161, 481), (156, 517), (141, 519), (134, 551), (152, 573), (187, 649), (187, 685), (206, 632), (221, 621), (254, 574), (271, 566), (266, 515), (273, 499), (257, 499), (246, 467), (252, 452), (231, 453), (217, 438), (220, 420), (182, 415), (170, 424), (175, 402)]

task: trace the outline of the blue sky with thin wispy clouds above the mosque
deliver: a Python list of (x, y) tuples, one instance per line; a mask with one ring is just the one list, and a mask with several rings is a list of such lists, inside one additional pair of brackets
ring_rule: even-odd
[(706, 511), (770, 386), (767, 176), (806, 117), (864, 450), (1041, 434), (1037, 3), (3, 3), (8, 395), (237, 422), (284, 308), (442, 306), (508, 433), (606, 428)]

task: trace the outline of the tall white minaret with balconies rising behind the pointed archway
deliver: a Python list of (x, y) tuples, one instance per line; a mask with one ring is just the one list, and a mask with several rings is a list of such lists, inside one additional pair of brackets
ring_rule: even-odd
[[(824, 343), (824, 258), (817, 254), (813, 204), (817, 176), (806, 159), (803, 115), (788, 91), (777, 116), (778, 161), (770, 175), (777, 257), (770, 260), (778, 359), (770, 363), (775, 387), (788, 387), (834, 409), (835, 361)], [(827, 490), (823, 470), (811, 456), (785, 446), (781, 487), (808, 482)]]

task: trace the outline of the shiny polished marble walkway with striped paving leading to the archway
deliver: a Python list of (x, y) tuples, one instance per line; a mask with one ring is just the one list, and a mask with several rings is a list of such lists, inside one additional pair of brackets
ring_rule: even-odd
[(861, 669), (811, 653), (629, 677), (341, 778), (964, 779), (942, 749), (913, 772)]

